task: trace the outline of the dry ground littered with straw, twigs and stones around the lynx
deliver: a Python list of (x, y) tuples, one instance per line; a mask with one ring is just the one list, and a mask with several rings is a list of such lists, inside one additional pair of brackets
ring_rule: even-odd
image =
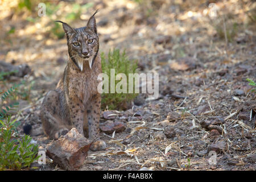
[[(71, 23), (85, 26), (100, 9), (100, 52), (126, 49), (129, 58), (138, 61), (139, 72), (159, 73), (158, 99), (140, 96), (134, 101), (139, 106), (102, 110), (101, 125), (122, 122), (126, 129), (101, 132), (106, 150), (89, 151), (80, 170), (255, 170), (256, 97), (246, 81), (256, 80), (256, 26), (247, 16), (255, 2), (213, 1), (219, 8), (214, 17), (203, 1), (146, 2), (95, 1), (82, 20)], [(71, 7), (59, 4), (57, 15)], [(0, 14), (0, 43), (5, 45), (0, 60), (32, 69), (25, 78), (6, 81), (24, 80), (19, 132), (30, 123), (32, 138), (45, 148), (51, 141), (43, 134), (40, 105), (55, 89), (68, 60), (66, 39), (49, 32), (49, 22), (60, 17), (53, 14), (33, 22), (26, 19), (31, 12), (12, 13), (7, 5), (5, 10)], [(216, 164), (209, 163), (210, 151), (217, 154)], [(61, 168), (47, 160), (39, 169)]]

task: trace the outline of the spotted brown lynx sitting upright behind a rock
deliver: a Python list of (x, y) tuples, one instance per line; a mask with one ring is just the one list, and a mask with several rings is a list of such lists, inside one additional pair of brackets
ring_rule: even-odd
[(99, 138), (101, 95), (97, 91), (97, 77), (101, 73), (101, 59), (96, 13), (81, 28), (56, 21), (62, 23), (67, 36), (69, 60), (56, 89), (46, 94), (40, 112), (44, 132), (50, 139), (58, 139), (76, 127), (93, 141), (93, 151), (106, 147)]

